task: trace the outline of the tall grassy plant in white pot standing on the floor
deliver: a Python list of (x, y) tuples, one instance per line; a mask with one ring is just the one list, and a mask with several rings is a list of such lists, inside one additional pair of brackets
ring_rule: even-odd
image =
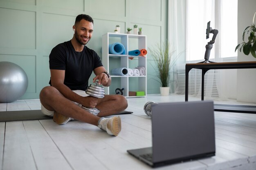
[(162, 96), (168, 96), (170, 91), (169, 83), (171, 82), (169, 72), (173, 66), (172, 56), (175, 51), (170, 49), (168, 40), (162, 43), (162, 45), (157, 44), (157, 47), (154, 49), (149, 48), (149, 51), (155, 60), (153, 68), (159, 78), (159, 81), (157, 81), (161, 84), (160, 93)]

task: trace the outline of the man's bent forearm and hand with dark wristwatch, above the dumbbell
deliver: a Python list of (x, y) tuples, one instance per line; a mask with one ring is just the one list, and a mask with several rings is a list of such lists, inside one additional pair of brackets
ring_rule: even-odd
[(111, 77), (108, 78), (108, 75), (104, 72), (106, 72), (106, 69), (101, 66), (97, 67), (93, 70), (96, 77), (93, 78), (93, 83), (95, 83), (96, 80), (99, 80), (99, 84), (103, 86), (110, 86), (111, 85)]

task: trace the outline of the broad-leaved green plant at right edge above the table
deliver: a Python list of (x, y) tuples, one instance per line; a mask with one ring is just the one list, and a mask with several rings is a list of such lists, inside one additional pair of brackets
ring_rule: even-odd
[[(250, 53), (252, 54), (252, 56), (254, 56), (254, 58), (256, 58), (256, 27), (255, 27), (255, 24), (254, 24), (254, 18), (255, 18), (255, 14), (256, 12), (254, 13), (254, 17), (253, 17), (253, 20), (252, 20), (252, 25), (248, 26), (245, 28), (245, 30), (243, 31), (243, 42), (238, 44), (236, 46), (236, 49), (235, 51), (240, 47), (240, 52), (242, 51), (243, 49), (243, 53), (245, 55), (249, 55)], [(248, 36), (248, 41), (245, 42), (245, 33), (247, 32), (247, 34), (250, 33), (250, 35)]]

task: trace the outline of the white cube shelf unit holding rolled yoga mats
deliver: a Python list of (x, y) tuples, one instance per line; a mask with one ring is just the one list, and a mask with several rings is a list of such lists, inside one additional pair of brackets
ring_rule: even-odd
[[(115, 55), (109, 54), (109, 45), (115, 42), (119, 42), (124, 45), (125, 54)], [(143, 56), (130, 56), (128, 51), (136, 49), (146, 49), (146, 36), (135, 34), (116, 34), (107, 33), (102, 36), (102, 63), (107, 69), (107, 72), (112, 77), (112, 83), (110, 87), (105, 88), (105, 94), (116, 94), (115, 89), (119, 88), (123, 90), (125, 97), (145, 97), (147, 94), (147, 74), (145, 76), (114, 76), (111, 74), (111, 70), (114, 68), (130, 68), (145, 67), (147, 72), (146, 57)], [(132, 60), (129, 57), (134, 57)], [(146, 73), (145, 72), (145, 73)], [(129, 91), (145, 92), (145, 96), (129, 96)]]

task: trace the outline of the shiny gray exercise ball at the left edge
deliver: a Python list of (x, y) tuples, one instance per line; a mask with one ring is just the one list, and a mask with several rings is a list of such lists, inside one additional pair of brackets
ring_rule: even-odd
[(27, 74), (11, 62), (0, 62), (0, 103), (18, 100), (25, 94), (28, 86)]

